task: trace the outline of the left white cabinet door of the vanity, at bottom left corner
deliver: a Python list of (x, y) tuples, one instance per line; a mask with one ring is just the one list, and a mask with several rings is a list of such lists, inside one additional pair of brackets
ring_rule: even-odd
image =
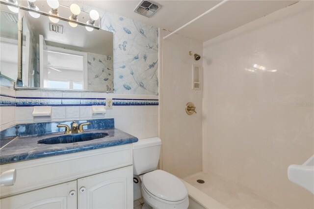
[(1, 209), (76, 209), (77, 181), (2, 198)]

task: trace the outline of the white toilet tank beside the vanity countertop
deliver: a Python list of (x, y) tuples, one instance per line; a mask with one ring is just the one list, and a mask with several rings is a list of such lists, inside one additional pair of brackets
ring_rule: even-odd
[(140, 139), (133, 143), (133, 174), (141, 175), (156, 170), (160, 155), (161, 139)]

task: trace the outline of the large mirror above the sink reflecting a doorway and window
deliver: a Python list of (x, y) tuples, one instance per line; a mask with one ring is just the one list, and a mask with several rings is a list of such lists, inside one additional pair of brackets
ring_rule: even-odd
[(22, 79), (18, 86), (113, 92), (113, 33), (87, 31), (48, 16), (23, 17)]

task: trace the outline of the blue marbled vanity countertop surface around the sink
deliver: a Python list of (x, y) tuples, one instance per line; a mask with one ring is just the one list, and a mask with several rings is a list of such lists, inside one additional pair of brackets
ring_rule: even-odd
[(87, 150), (100, 149), (105, 147), (129, 144), (137, 142), (138, 139), (126, 132), (115, 128), (110, 129), (89, 129), (88, 132), (108, 133), (107, 136), (90, 141), (81, 141), (68, 144), (39, 144), (38, 140), (63, 135), (63, 132), (55, 132), (40, 136), (17, 136), (0, 150), (0, 164), (18, 162), (22, 160), (35, 159), (40, 157), (51, 157), (69, 153), (82, 152)]

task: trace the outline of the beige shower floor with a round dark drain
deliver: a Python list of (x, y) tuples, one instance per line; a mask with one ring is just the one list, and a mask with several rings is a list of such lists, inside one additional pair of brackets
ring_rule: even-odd
[[(205, 183), (197, 183), (197, 180)], [(230, 209), (282, 209), (279, 205), (254, 194), (249, 189), (227, 182), (219, 176), (200, 172), (183, 179)]]

